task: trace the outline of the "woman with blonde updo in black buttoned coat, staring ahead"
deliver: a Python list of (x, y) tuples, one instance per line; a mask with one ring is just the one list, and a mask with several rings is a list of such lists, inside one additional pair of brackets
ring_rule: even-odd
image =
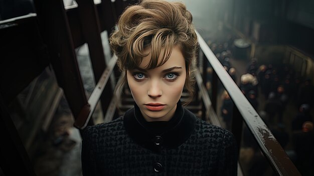
[(127, 83), (135, 104), (86, 128), (83, 175), (236, 175), (233, 135), (181, 105), (184, 87), (193, 97), (197, 51), (185, 5), (144, 0), (127, 8), (110, 45), (124, 76), (117, 92)]

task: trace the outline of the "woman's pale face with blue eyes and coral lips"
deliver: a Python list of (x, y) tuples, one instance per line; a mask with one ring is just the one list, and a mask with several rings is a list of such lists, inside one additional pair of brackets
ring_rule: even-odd
[[(150, 53), (150, 49), (144, 53)], [(146, 121), (168, 121), (176, 111), (185, 84), (185, 59), (176, 46), (164, 65), (146, 70), (150, 57), (144, 57), (137, 69), (127, 70), (128, 86)]]

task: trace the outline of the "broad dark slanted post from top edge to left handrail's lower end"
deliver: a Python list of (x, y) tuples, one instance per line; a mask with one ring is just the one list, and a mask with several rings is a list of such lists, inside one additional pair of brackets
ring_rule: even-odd
[(74, 118), (77, 118), (89, 107), (63, 1), (35, 0), (34, 4), (58, 84), (64, 90)]

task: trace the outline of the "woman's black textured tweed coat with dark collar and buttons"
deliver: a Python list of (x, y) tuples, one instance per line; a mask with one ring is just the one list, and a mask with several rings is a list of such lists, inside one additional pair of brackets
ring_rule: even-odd
[(175, 116), (149, 128), (135, 105), (83, 132), (83, 175), (237, 175), (231, 132), (206, 123), (178, 103)]

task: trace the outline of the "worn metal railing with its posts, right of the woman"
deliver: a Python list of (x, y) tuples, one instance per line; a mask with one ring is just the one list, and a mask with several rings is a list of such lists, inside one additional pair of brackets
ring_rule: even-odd
[[(201, 35), (198, 32), (197, 35), (199, 39), (200, 50), (204, 53), (203, 67), (206, 67), (207, 62), (209, 62), (213, 67), (213, 109), (216, 109), (217, 107), (218, 79), (221, 81), (229, 93), (232, 101), (234, 102), (232, 132), (237, 140), (239, 146), (238, 148), (240, 148), (242, 137), (242, 122), (244, 121), (251, 134), (257, 141), (264, 156), (267, 158), (273, 171), (277, 175), (300, 175), (299, 171), (296, 169), (295, 165), (292, 163), (285, 151), (282, 149), (281, 145), (275, 139), (269, 128), (243, 95), (236, 83), (223, 68)], [(203, 80), (206, 80), (206, 72), (203, 72)]]

